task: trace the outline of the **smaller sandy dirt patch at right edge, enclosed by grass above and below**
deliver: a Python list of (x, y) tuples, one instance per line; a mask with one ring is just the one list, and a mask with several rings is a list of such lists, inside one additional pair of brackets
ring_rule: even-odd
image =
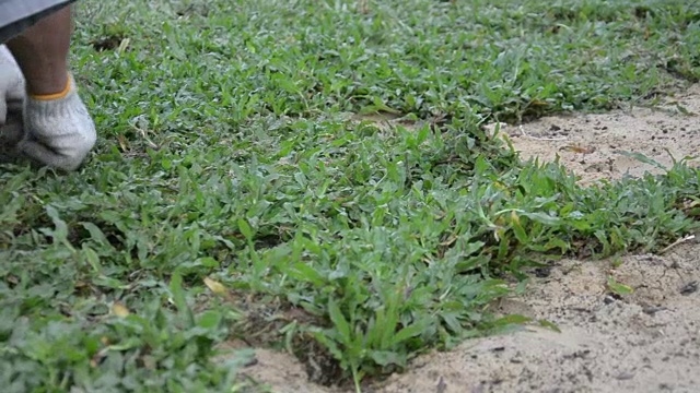
[[(655, 108), (630, 108), (602, 115), (544, 118), (524, 126), (501, 124), (524, 159), (560, 162), (581, 183), (642, 176), (663, 169), (625, 155), (640, 153), (670, 167), (673, 159), (700, 156), (700, 85)], [(487, 127), (490, 130), (494, 124)], [(689, 165), (698, 165), (690, 159)]]

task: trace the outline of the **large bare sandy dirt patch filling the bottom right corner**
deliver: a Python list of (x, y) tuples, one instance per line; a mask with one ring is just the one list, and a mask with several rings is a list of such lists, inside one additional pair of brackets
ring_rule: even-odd
[[(376, 392), (697, 392), (700, 389), (700, 247), (621, 265), (563, 261), (504, 312), (557, 324), (434, 353)], [(634, 289), (612, 296), (608, 276)]]

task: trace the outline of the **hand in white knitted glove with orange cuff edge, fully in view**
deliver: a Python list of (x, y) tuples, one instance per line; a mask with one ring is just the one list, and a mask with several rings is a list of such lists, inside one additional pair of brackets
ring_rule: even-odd
[(63, 92), (26, 97), (24, 139), (18, 145), (24, 155), (44, 165), (74, 170), (96, 140), (95, 124), (71, 75)]

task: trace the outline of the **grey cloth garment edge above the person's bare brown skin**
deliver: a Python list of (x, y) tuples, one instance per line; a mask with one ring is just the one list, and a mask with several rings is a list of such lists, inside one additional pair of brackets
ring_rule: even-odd
[(0, 44), (75, 0), (0, 0)]

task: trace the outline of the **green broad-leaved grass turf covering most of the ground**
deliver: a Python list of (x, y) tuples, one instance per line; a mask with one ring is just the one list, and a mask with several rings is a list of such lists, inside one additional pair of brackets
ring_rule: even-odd
[[(4, 392), (256, 391), (247, 354), (213, 360), (234, 337), (360, 386), (524, 322), (489, 303), (533, 266), (699, 226), (682, 162), (582, 188), (479, 129), (697, 81), (693, 2), (90, 0), (77, 24), (95, 154), (0, 172)], [(416, 123), (351, 120), (376, 111)]]

